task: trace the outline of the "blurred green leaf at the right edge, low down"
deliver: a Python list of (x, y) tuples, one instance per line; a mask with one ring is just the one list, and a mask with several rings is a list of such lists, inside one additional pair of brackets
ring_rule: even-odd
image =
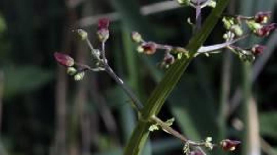
[(264, 136), (277, 138), (277, 112), (264, 112), (260, 114), (260, 132)]

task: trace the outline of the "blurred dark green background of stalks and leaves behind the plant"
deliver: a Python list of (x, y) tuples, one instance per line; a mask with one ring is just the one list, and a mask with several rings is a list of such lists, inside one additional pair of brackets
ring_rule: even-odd
[[(144, 6), (144, 7), (143, 7)], [(146, 7), (145, 7), (146, 6)], [(140, 8), (141, 12), (140, 12)], [(272, 11), (274, 0), (231, 0), (227, 13), (254, 15)], [(202, 10), (203, 18), (211, 8)], [(55, 51), (78, 62), (90, 61), (86, 44), (72, 30), (83, 28), (95, 47), (96, 23), (112, 20), (107, 57), (116, 73), (145, 101), (161, 80), (163, 54), (136, 52), (130, 32), (147, 40), (184, 46), (192, 29), (186, 22), (195, 10), (160, 0), (1, 0), (0, 1), (0, 155), (119, 155), (136, 123), (128, 97), (104, 72), (75, 82), (57, 65)], [(223, 42), (218, 23), (206, 45)], [(223, 50), (201, 55), (190, 64), (160, 112), (176, 118), (173, 127), (192, 140), (212, 136), (241, 140), (231, 154), (277, 154), (277, 33), (251, 37), (243, 47), (265, 44), (251, 70)], [(250, 72), (251, 79), (244, 80)], [(240, 89), (251, 88), (246, 103)], [(210, 154), (227, 154), (216, 148)], [(182, 144), (165, 132), (150, 135), (144, 155), (179, 155)]]

